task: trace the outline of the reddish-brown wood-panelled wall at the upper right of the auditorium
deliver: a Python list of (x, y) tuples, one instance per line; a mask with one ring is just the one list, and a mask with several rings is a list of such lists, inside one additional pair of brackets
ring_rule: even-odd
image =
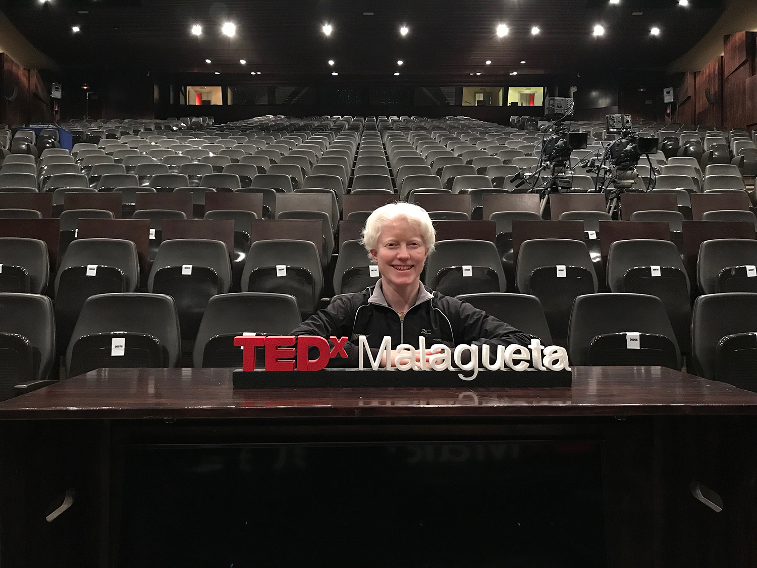
[(725, 36), (723, 55), (699, 72), (676, 77), (676, 122), (716, 128), (757, 128), (755, 38), (757, 34), (752, 32)]

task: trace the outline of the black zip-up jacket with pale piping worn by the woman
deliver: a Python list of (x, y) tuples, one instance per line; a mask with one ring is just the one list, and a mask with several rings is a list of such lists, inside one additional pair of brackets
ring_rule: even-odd
[[(450, 348), (456, 345), (491, 345), (491, 360), (497, 357), (497, 345), (515, 343), (528, 347), (535, 335), (519, 331), (496, 317), (438, 292), (429, 292), (421, 285), (418, 300), (404, 317), (400, 317), (384, 298), (381, 280), (363, 292), (336, 298), (323, 310), (301, 323), (291, 335), (319, 335), (329, 339), (350, 338), (344, 345), (347, 359), (334, 357), (329, 367), (357, 367), (358, 337), (365, 335), (373, 357), (385, 335), (391, 336), (391, 346), (400, 343), (419, 348), (419, 335), (425, 337), (426, 348), (442, 343)], [(331, 342), (329, 341), (329, 345)], [(316, 354), (311, 354), (316, 357)]]

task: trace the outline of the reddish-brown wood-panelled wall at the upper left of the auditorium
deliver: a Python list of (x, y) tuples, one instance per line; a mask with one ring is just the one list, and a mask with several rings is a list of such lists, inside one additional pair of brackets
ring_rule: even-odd
[[(6, 100), (16, 90), (13, 101)], [(24, 69), (0, 53), (0, 123), (39, 123), (52, 119), (49, 86), (36, 69)]]

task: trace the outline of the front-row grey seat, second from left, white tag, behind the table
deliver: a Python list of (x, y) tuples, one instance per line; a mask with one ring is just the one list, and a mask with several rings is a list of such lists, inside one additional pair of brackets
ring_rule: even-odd
[(67, 376), (99, 367), (177, 367), (181, 353), (173, 298), (95, 295), (84, 303), (68, 342)]

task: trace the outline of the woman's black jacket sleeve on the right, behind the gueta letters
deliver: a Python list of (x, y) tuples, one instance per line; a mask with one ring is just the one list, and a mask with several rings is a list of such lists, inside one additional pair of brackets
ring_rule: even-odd
[(456, 326), (455, 342), (457, 345), (489, 345), (489, 356), (492, 362), (497, 358), (497, 346), (523, 345), (528, 347), (531, 339), (539, 339), (536, 335), (530, 335), (510, 326), (508, 323), (497, 320), (483, 310), (473, 307), (466, 301), (444, 296), (439, 301), (442, 311), (450, 315), (450, 323)]

